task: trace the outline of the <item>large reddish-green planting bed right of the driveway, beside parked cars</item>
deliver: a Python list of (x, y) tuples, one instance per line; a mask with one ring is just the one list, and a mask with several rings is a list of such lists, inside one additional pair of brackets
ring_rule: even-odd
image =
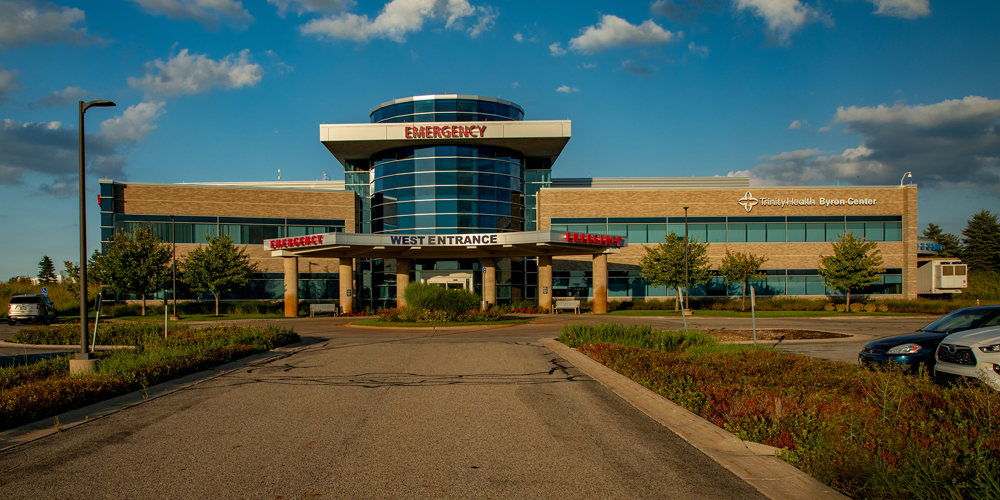
[(1000, 498), (1000, 393), (981, 384), (612, 326), (560, 340), (848, 496)]

